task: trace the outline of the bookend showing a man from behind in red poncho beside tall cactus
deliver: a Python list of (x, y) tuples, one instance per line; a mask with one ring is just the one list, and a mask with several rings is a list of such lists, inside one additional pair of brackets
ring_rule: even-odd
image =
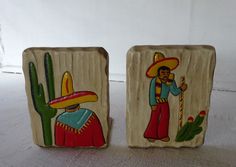
[(34, 143), (95, 147), (108, 143), (108, 53), (100, 47), (29, 48), (23, 71)]

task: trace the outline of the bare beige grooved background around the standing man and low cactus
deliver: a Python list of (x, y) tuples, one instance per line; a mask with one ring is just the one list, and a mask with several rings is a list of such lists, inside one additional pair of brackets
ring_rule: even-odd
[[(177, 86), (180, 77), (185, 77), (188, 89), (184, 92), (183, 124), (189, 116), (196, 117), (202, 110), (207, 112), (201, 125), (203, 131), (190, 141), (176, 142), (178, 130), (179, 97), (169, 95), (170, 106), (169, 142), (156, 140), (149, 142), (143, 137), (148, 125), (151, 108), (149, 106), (149, 85), (146, 76), (148, 67), (153, 63), (155, 52), (166, 57), (179, 59), (179, 66), (172, 71)], [(127, 140), (132, 147), (196, 147), (204, 142), (207, 129), (210, 95), (215, 68), (215, 49), (211, 46), (135, 46), (127, 54)]]

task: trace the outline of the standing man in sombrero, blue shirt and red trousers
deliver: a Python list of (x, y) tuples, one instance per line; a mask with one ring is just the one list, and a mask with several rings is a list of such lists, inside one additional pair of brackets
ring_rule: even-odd
[(168, 142), (170, 109), (168, 95), (171, 92), (174, 96), (179, 95), (187, 89), (187, 84), (177, 87), (174, 74), (170, 73), (179, 65), (179, 60), (174, 57), (165, 56), (156, 52), (153, 64), (148, 68), (146, 75), (152, 78), (149, 88), (149, 103), (151, 106), (151, 117), (144, 132), (144, 137), (150, 142), (161, 140)]

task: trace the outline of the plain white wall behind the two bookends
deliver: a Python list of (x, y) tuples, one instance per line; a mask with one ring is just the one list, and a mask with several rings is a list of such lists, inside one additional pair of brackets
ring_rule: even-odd
[(102, 46), (110, 73), (124, 78), (133, 45), (209, 44), (217, 51), (215, 83), (236, 83), (235, 0), (0, 2), (3, 65), (21, 65), (22, 51), (32, 46)]

